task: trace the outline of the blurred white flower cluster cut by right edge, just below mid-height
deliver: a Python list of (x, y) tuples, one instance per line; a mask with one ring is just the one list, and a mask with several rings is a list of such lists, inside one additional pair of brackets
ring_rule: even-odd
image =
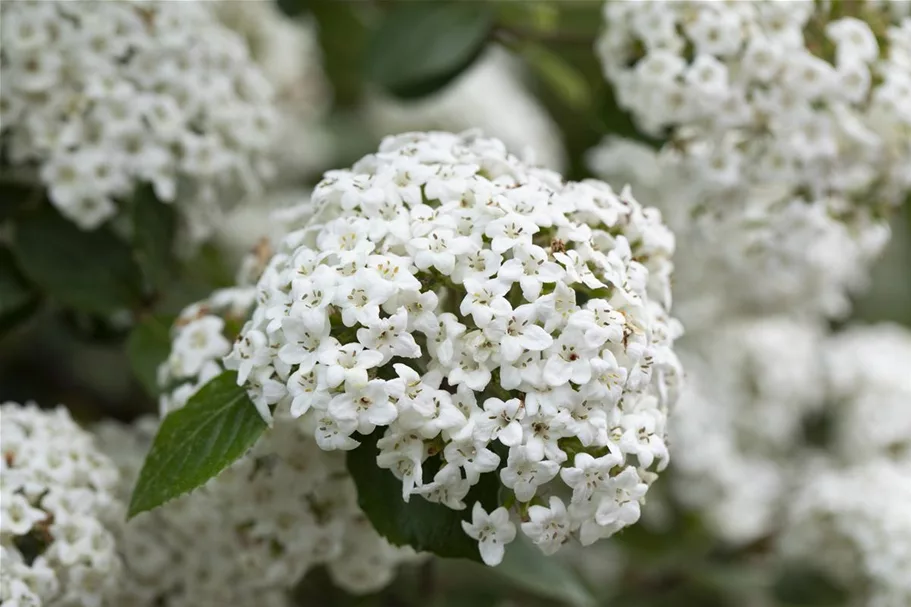
[(832, 447), (850, 463), (911, 463), (911, 331), (891, 324), (856, 326), (827, 346)]

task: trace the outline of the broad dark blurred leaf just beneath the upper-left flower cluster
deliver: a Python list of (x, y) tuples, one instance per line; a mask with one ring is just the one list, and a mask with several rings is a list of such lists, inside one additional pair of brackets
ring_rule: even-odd
[(132, 251), (106, 226), (82, 231), (45, 207), (15, 227), (13, 253), (23, 274), (60, 303), (102, 315), (142, 304)]

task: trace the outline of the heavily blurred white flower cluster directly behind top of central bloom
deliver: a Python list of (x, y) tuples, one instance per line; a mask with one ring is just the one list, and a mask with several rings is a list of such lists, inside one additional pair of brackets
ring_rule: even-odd
[(562, 134), (514, 61), (495, 48), (430, 97), (401, 101), (373, 95), (366, 104), (368, 123), (379, 135), (480, 128), (534, 164), (559, 171), (566, 165)]

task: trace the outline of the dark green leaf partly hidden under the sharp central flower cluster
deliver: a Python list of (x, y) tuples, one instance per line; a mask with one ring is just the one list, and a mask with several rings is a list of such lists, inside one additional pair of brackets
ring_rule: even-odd
[[(389, 470), (376, 465), (376, 443), (381, 433), (376, 431), (360, 437), (361, 445), (348, 452), (348, 471), (357, 486), (357, 502), (373, 527), (396, 546), (408, 545), (439, 556), (480, 561), (477, 542), (462, 529), (462, 521), (471, 518), (471, 509), (451, 510), (419, 495), (405, 503), (402, 482)], [(425, 468), (432, 466), (432, 461), (425, 462)], [(499, 485), (496, 473), (482, 474), (480, 482), (468, 492), (465, 503), (480, 501), (489, 512), (497, 506)]]

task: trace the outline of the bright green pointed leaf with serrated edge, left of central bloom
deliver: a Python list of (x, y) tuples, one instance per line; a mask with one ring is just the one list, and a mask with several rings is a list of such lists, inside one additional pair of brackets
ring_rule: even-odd
[(237, 373), (225, 371), (161, 423), (133, 489), (128, 517), (201, 487), (256, 442), (266, 423)]

